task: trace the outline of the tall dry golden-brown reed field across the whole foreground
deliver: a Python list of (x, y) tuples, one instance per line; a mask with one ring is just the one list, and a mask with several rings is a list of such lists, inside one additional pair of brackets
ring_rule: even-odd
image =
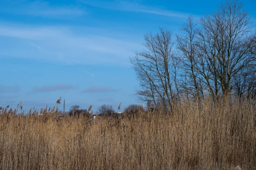
[[(255, 107), (180, 102), (135, 118), (1, 109), (0, 170), (253, 170)], [(237, 167), (239, 166), (239, 167)]]

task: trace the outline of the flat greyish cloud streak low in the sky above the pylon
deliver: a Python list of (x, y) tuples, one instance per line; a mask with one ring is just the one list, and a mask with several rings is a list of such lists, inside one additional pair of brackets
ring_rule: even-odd
[(71, 84), (44, 85), (41, 87), (34, 87), (32, 92), (61, 91), (61, 90), (71, 90), (73, 88), (74, 86)]

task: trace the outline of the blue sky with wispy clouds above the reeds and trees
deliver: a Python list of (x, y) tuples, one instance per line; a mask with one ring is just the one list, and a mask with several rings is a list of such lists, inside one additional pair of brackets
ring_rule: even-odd
[[(0, 0), (0, 105), (52, 107), (61, 96), (93, 110), (138, 103), (129, 57), (159, 26), (175, 34), (222, 0)], [(256, 23), (256, 1), (244, 0)], [(63, 101), (62, 101), (63, 104)], [(63, 105), (59, 105), (62, 109)]]

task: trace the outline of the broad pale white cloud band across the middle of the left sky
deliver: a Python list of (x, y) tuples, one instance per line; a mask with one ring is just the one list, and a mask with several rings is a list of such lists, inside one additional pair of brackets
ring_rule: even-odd
[[(130, 65), (128, 57), (143, 46), (64, 26), (24, 26), (0, 23), (0, 57), (44, 59), (68, 64)], [(80, 70), (86, 71), (84, 68)]]

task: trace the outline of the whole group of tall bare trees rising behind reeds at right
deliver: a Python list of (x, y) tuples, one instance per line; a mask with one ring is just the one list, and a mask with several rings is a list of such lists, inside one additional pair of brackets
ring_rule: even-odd
[(181, 99), (256, 98), (256, 32), (242, 3), (227, 0), (180, 30), (145, 34), (146, 49), (130, 57), (140, 101), (172, 109)]

